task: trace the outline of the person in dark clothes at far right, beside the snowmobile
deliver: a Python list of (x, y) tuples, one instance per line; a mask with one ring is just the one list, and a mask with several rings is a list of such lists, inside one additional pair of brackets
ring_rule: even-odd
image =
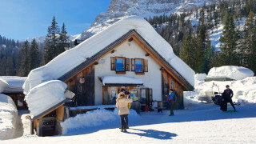
[[(226, 90), (224, 90), (224, 92), (222, 93), (222, 102), (224, 106), (227, 106), (227, 102), (230, 102), (230, 105), (233, 107), (234, 111), (235, 107), (234, 107), (234, 103), (232, 102), (232, 97), (233, 97), (233, 90), (230, 89), (229, 85), (226, 85)], [(226, 111), (226, 107), (224, 109), (222, 109), (223, 111)]]

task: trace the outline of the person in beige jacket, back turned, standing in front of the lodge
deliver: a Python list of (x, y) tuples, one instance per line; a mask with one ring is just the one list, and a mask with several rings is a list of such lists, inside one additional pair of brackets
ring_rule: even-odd
[(128, 114), (130, 114), (130, 111), (128, 109), (128, 103), (130, 102), (133, 102), (133, 100), (130, 98), (126, 98), (126, 94), (121, 90), (121, 92), (118, 94), (116, 103), (116, 106), (119, 108), (118, 114), (120, 115), (121, 119), (121, 132), (127, 132), (126, 126)]

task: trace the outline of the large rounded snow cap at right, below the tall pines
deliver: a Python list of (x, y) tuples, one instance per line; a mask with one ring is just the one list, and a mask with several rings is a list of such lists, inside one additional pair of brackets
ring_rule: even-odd
[(207, 78), (230, 78), (241, 80), (247, 77), (253, 77), (254, 72), (242, 66), (220, 66), (210, 69)]

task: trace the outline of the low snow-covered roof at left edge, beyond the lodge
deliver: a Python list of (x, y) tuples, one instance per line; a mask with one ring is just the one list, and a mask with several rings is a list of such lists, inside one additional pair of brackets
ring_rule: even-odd
[(2, 76), (0, 77), (0, 93), (22, 93), (22, 85), (26, 77)]

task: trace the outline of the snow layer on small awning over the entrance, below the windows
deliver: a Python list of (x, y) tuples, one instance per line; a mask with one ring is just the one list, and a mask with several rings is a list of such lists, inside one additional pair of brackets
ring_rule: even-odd
[(103, 86), (142, 86), (140, 78), (107, 75), (100, 78)]

